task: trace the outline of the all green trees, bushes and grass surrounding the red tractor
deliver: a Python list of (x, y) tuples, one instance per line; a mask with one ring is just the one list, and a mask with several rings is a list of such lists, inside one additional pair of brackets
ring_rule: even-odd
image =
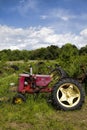
[(48, 74), (47, 66), (55, 64), (74, 78), (82, 75), (80, 66), (85, 65), (87, 70), (87, 46), (80, 50), (66, 44), (33, 51), (0, 51), (0, 97), (7, 97), (7, 101), (0, 102), (0, 130), (87, 130), (87, 97), (81, 110), (68, 112), (56, 111), (47, 103), (48, 94), (40, 94), (36, 100), (28, 95), (21, 105), (11, 102), (15, 92), (10, 91), (10, 83), (17, 87), (20, 73), (29, 72), (32, 65), (33, 73)]

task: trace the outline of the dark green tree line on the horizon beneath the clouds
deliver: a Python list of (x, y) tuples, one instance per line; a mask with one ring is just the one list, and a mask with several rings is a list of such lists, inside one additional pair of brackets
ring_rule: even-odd
[(72, 57), (87, 55), (87, 45), (78, 49), (75, 45), (67, 43), (61, 48), (55, 45), (36, 50), (2, 50), (0, 51), (0, 60), (18, 61), (18, 60), (72, 60)]

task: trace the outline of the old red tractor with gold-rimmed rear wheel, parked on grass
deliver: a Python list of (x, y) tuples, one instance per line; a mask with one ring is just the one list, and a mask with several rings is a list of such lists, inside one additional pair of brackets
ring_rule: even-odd
[(13, 103), (26, 102), (26, 93), (50, 93), (52, 104), (56, 109), (75, 110), (82, 107), (85, 91), (82, 84), (56, 65), (49, 75), (23, 73), (19, 76), (18, 93), (13, 97)]

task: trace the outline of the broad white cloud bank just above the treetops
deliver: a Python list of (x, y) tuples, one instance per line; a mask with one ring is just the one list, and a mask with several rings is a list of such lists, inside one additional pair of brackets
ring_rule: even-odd
[(87, 28), (76, 35), (72, 33), (57, 34), (50, 27), (13, 28), (0, 25), (0, 50), (31, 50), (50, 45), (61, 47), (66, 43), (75, 44), (78, 48), (87, 45)]

